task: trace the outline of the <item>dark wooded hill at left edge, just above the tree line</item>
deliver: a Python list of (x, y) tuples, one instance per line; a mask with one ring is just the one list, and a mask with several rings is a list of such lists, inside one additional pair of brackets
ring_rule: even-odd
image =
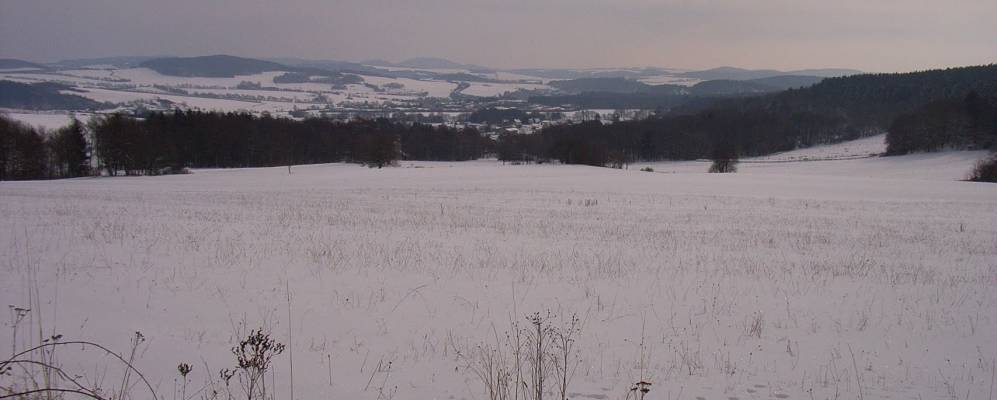
[(108, 108), (83, 96), (63, 94), (69, 86), (58, 83), (0, 81), (0, 107), (26, 110), (97, 110)]

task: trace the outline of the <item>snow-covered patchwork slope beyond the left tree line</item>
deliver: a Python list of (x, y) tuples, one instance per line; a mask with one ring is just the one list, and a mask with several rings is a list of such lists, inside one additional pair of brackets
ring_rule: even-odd
[[(418, 71), (414, 69), (405, 69)], [(446, 71), (426, 70), (434, 77)], [(454, 73), (468, 74), (458, 70)], [(0, 71), (0, 80), (24, 83), (57, 82), (81, 90), (80, 95), (102, 102), (116, 104), (144, 102), (156, 105), (168, 100), (181, 108), (199, 108), (220, 111), (270, 112), (282, 115), (295, 108), (350, 107), (387, 102), (399, 103), (425, 98), (448, 98), (457, 82), (446, 75), (438, 78), (410, 79), (371, 75), (357, 75), (363, 84), (333, 85), (331, 83), (301, 82), (277, 83), (275, 78), (282, 71), (269, 71), (231, 78), (206, 78), (164, 75), (149, 68), (71, 68), (63, 70), (8, 70)], [(495, 78), (522, 78), (499, 76)], [(495, 79), (493, 78), (493, 79)], [(258, 85), (264, 90), (245, 90), (241, 87)], [(472, 82), (464, 94), (469, 96), (495, 96), (518, 89), (547, 88), (542, 84), (524, 84), (514, 81), (481, 83)], [(251, 89), (251, 88), (250, 88)], [(241, 90), (233, 93), (233, 90)], [(186, 92), (186, 94), (184, 93)], [(293, 99), (293, 101), (287, 101)], [(239, 104), (255, 103), (255, 104)], [(299, 104), (294, 104), (299, 103)], [(134, 105), (134, 104), (131, 104)]]

